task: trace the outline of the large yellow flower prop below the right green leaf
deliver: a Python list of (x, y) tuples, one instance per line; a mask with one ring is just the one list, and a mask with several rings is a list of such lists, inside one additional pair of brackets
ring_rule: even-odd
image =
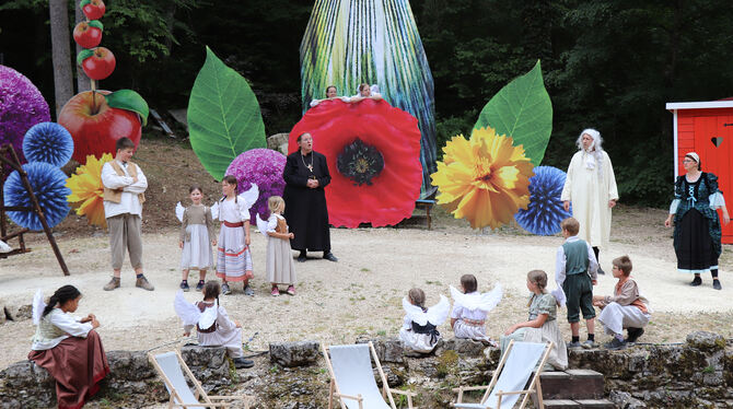
[(509, 223), (530, 203), (530, 177), (534, 175), (522, 145), (491, 128), (474, 129), (470, 140), (453, 137), (430, 175), (438, 186), (438, 203), (473, 229), (497, 229)]

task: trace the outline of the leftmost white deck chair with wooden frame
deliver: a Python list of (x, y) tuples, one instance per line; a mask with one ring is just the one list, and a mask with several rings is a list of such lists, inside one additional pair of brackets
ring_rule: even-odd
[[(163, 367), (158, 363), (158, 360), (155, 360), (156, 355), (160, 354), (154, 354), (152, 352), (148, 352), (148, 360), (153, 364), (153, 367), (155, 371), (158, 371), (158, 374), (163, 378), (163, 382), (167, 386), (170, 394), (171, 394), (171, 399), (168, 399), (168, 408), (229, 408), (232, 406), (231, 402), (222, 401), (222, 400), (243, 400), (244, 401), (244, 408), (249, 409), (249, 406), (254, 404), (255, 398), (253, 396), (247, 396), (247, 395), (242, 395), (242, 396), (209, 396), (207, 395), (206, 390), (201, 387), (201, 383), (198, 382), (196, 376), (194, 376), (194, 373), (190, 371), (188, 365), (186, 364), (186, 361), (184, 361), (183, 357), (181, 355), (181, 351), (175, 350), (171, 351), (175, 353), (175, 357), (178, 361), (178, 365), (183, 370), (183, 373), (185, 376), (188, 376), (188, 378), (194, 384), (194, 387), (196, 388), (196, 393), (194, 394), (194, 397), (197, 400), (203, 400), (198, 404), (189, 404), (185, 402), (183, 404), (184, 399), (182, 397), (182, 393), (176, 389), (176, 387), (173, 385), (173, 382), (168, 377), (168, 375), (165, 374), (165, 371), (163, 371)], [(188, 385), (186, 385), (188, 387)], [(177, 402), (181, 404), (177, 404)]]

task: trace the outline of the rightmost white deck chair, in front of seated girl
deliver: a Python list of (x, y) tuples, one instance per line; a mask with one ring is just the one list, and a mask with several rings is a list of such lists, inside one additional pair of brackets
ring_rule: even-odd
[[(523, 409), (530, 396), (537, 395), (537, 406), (544, 408), (542, 386), (539, 385), (539, 373), (543, 371), (547, 358), (552, 350), (552, 342), (514, 342), (507, 347), (504, 355), (499, 361), (497, 370), (491, 376), (488, 386), (470, 386), (453, 389), (458, 393), (458, 399), (451, 404), (454, 408), (463, 409), (501, 409), (513, 408), (520, 396), (524, 395), (520, 409)], [(535, 367), (537, 369), (535, 371)], [(532, 373), (535, 373), (530, 381)], [(527, 381), (530, 384), (527, 385)], [(526, 389), (524, 388), (526, 385)], [(464, 404), (463, 393), (466, 390), (486, 389), (478, 404)]]

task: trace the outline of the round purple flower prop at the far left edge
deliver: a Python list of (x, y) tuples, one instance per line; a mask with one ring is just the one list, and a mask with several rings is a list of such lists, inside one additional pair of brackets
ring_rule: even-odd
[(32, 126), (50, 120), (48, 104), (31, 80), (0, 66), (0, 147), (11, 143), (25, 163), (23, 136)]

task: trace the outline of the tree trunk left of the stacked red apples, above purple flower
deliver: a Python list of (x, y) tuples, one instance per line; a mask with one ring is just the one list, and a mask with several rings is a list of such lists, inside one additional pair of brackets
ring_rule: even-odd
[(51, 57), (54, 61), (54, 90), (56, 94), (56, 117), (63, 104), (73, 95), (71, 79), (71, 50), (69, 47), (68, 0), (49, 0), (51, 23)]

